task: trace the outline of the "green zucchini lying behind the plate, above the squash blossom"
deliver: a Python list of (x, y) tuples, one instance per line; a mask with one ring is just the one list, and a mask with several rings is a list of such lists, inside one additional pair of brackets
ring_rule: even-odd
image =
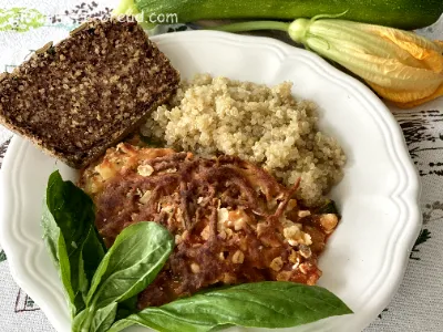
[[(187, 23), (208, 19), (295, 20), (338, 14), (342, 20), (401, 29), (431, 25), (443, 12), (442, 0), (121, 0), (115, 13), (144, 13), (144, 23), (169, 14)], [(174, 15), (174, 17), (172, 17)], [(159, 22), (159, 20), (158, 20)], [(157, 22), (157, 23), (158, 23)], [(164, 22), (171, 23), (171, 22)]]

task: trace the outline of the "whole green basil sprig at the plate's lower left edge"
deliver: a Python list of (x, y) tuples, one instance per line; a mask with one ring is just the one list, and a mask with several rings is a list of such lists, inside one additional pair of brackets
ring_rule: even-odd
[(209, 289), (137, 312), (136, 295), (164, 267), (174, 248), (172, 235), (158, 224), (138, 222), (105, 252), (92, 200), (58, 172), (49, 179), (42, 227), (70, 303), (72, 332), (117, 332), (134, 324), (165, 332), (274, 329), (352, 313), (321, 287), (282, 281)]

